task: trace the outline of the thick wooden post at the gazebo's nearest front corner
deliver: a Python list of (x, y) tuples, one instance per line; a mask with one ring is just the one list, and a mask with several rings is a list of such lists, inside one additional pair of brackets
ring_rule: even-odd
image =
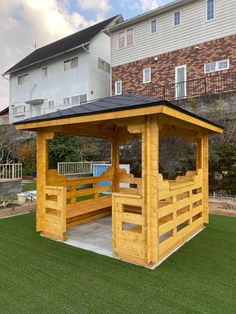
[(148, 116), (142, 143), (143, 209), (146, 228), (146, 263), (158, 261), (157, 183), (159, 129), (157, 116)]

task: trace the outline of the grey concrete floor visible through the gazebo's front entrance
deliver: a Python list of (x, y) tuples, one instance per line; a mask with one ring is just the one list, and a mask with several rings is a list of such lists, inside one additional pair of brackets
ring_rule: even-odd
[(69, 228), (64, 243), (112, 257), (111, 216)]

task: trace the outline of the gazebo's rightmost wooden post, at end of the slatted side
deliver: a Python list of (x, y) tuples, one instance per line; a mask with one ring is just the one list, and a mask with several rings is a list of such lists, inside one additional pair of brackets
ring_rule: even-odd
[(203, 222), (209, 222), (209, 184), (208, 184), (208, 134), (204, 133), (197, 142), (197, 169), (202, 169), (202, 205), (203, 205)]

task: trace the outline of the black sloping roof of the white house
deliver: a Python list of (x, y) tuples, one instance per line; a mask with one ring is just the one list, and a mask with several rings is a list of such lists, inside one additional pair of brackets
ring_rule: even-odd
[(65, 51), (71, 50), (83, 44), (89, 43), (99, 32), (105, 29), (118, 15), (111, 17), (108, 20), (90, 26), (70, 36), (57, 40), (49, 45), (36, 49), (12, 68), (4, 73), (4, 75), (13, 73), (17, 70), (25, 68), (31, 64), (38, 63), (45, 59), (54, 57)]

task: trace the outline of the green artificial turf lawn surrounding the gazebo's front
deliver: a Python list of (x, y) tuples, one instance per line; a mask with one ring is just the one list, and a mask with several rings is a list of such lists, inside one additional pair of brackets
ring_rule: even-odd
[(235, 313), (236, 219), (151, 271), (40, 237), (33, 214), (0, 220), (0, 313)]

